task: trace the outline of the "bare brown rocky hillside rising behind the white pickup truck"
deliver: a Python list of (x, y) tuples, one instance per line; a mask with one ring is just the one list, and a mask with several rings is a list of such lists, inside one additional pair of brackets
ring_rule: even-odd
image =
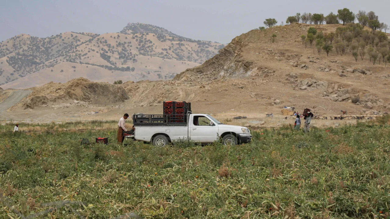
[[(336, 49), (328, 56), (324, 51), (318, 53), (315, 43), (305, 45), (301, 40), (301, 35), (307, 34), (310, 27), (328, 34), (343, 26), (293, 23), (251, 30), (233, 39), (204, 64), (187, 69), (172, 80), (128, 81), (115, 85), (121, 87), (129, 99), (110, 106), (87, 103), (86, 106), (104, 113), (83, 119), (116, 118), (124, 111), (161, 113), (162, 102), (167, 100), (190, 101), (194, 112), (212, 113), (219, 118), (248, 116), (254, 123), (261, 122), (266, 113), (284, 119), (281, 115), (284, 106), (294, 106), (299, 112), (311, 108), (317, 116), (340, 115), (342, 110), (349, 115), (388, 113), (390, 66), (385, 66), (382, 59), (380, 64), (374, 65), (369, 55), (356, 61), (349, 47), (343, 55)], [(342, 42), (341, 37), (333, 40), (335, 48)], [(57, 84), (56, 89), (64, 86), (70, 88)], [(34, 88), (34, 92), (8, 112), (26, 113), (23, 104), (35, 96), (48, 96), (43, 88)], [(110, 100), (103, 102), (109, 104)], [(45, 115), (55, 115), (52, 109), (58, 107), (61, 107), (58, 98), (56, 101), (49, 98), (47, 103), (37, 104), (28, 113), (39, 115), (43, 110)], [(75, 112), (72, 118), (82, 116), (76, 113), (79, 108), (72, 109), (69, 105), (65, 108), (67, 113)], [(274, 125), (280, 124), (283, 121), (274, 122)]]

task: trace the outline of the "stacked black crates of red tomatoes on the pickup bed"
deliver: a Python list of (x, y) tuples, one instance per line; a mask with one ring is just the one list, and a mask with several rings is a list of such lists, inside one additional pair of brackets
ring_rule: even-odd
[(191, 112), (190, 102), (165, 101), (163, 114), (169, 115), (171, 122), (186, 122), (186, 115)]

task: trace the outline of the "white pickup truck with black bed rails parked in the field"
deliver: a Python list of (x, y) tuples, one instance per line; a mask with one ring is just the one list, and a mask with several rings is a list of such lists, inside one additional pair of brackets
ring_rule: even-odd
[(134, 138), (164, 147), (174, 140), (190, 139), (199, 143), (222, 140), (225, 145), (248, 143), (252, 139), (246, 127), (225, 125), (207, 114), (133, 115)]

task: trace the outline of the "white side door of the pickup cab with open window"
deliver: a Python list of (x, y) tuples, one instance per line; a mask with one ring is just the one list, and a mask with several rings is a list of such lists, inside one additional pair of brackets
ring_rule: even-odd
[(218, 125), (213, 124), (205, 116), (193, 116), (190, 126), (190, 138), (202, 143), (213, 142), (218, 139)]

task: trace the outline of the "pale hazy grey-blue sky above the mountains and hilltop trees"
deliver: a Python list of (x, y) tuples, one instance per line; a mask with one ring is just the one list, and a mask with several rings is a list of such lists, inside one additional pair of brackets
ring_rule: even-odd
[(148, 23), (192, 39), (230, 42), (266, 18), (278, 23), (296, 12), (374, 11), (390, 25), (389, 0), (0, 0), (0, 41), (18, 34), (48, 37), (61, 32), (120, 32), (127, 23)]

